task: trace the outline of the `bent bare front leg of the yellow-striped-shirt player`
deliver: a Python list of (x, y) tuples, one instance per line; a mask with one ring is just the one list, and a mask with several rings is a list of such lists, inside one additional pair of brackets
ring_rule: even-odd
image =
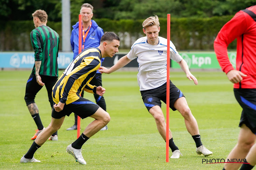
[(84, 130), (83, 134), (90, 138), (97, 132), (101, 130), (105, 125), (107, 125), (110, 121), (110, 116), (108, 112), (104, 111), (101, 107), (95, 112), (95, 114), (90, 117), (95, 120), (92, 121)]

